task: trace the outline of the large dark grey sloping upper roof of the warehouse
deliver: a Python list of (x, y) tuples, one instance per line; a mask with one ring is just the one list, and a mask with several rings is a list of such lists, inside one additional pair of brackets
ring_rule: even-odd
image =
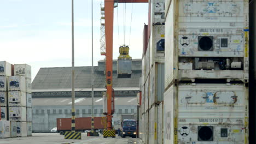
[[(105, 88), (105, 74), (95, 70), (95, 88)], [(139, 88), (139, 77), (141, 71), (133, 71), (131, 79), (118, 79), (117, 73), (113, 72), (114, 88)], [(78, 91), (91, 87), (91, 67), (75, 67), (75, 88)], [(70, 89), (71, 88), (71, 67), (40, 68), (32, 82), (33, 91), (40, 92), (45, 89)], [(80, 89), (79, 89), (80, 88)], [(136, 90), (136, 89), (134, 89)], [(88, 91), (86, 89), (86, 91)]]

